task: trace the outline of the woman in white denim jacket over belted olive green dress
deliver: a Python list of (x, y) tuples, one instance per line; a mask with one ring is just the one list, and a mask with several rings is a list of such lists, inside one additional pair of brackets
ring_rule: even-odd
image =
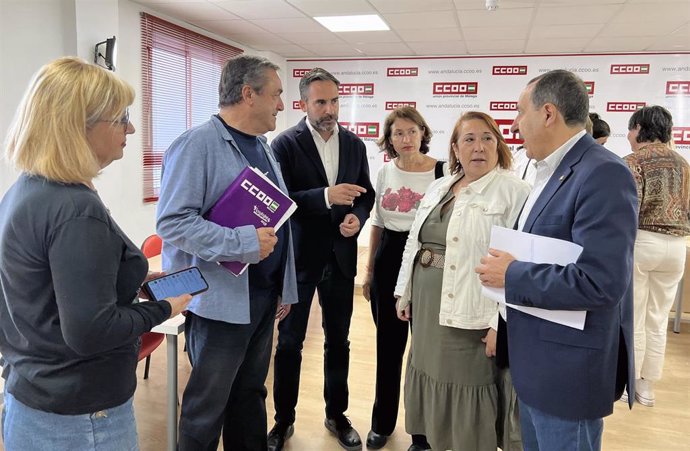
[(484, 113), (458, 120), (449, 157), (451, 175), (417, 210), (395, 289), (400, 319), (414, 307), (406, 429), (434, 450), (519, 450), (515, 396), (493, 358), (498, 305), (481, 295), (474, 268), (491, 227), (514, 225), (530, 187), (509, 171), (508, 145)]

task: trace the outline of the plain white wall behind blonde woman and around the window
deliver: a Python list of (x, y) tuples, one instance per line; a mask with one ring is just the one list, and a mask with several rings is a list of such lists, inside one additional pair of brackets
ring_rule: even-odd
[[(137, 100), (130, 108), (135, 128), (141, 124), (141, 39), (139, 12), (146, 11), (170, 22), (228, 44), (248, 54), (265, 56), (281, 68), (285, 60), (271, 52), (259, 52), (215, 36), (189, 24), (147, 10), (128, 0), (0, 0), (0, 137), (14, 117), (28, 80), (43, 64), (66, 55), (93, 60), (97, 42), (115, 35), (117, 74), (134, 86)], [(286, 127), (285, 115), (278, 116), (278, 129)], [(96, 179), (99, 195), (111, 214), (135, 243), (155, 231), (155, 205), (144, 204), (141, 134), (127, 140), (125, 156), (107, 167)], [(270, 136), (269, 136), (270, 138)], [(0, 195), (14, 182), (17, 171), (0, 163)]]

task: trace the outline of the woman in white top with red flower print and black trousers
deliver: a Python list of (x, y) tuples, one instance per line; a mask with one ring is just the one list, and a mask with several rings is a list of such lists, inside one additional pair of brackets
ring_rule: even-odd
[[(362, 287), (364, 297), (371, 302), (376, 325), (376, 397), (367, 435), (369, 449), (386, 444), (398, 418), (408, 325), (398, 320), (393, 290), (417, 207), (429, 184), (443, 176), (444, 163), (426, 155), (431, 135), (422, 115), (406, 106), (386, 117), (383, 136), (378, 141), (391, 161), (378, 173), (369, 260)], [(428, 448), (424, 436), (413, 435), (408, 451)]]

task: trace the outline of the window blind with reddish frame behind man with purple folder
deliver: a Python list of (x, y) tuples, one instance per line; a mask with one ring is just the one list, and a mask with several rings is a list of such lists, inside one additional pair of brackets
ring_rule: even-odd
[(218, 111), (218, 82), (236, 47), (141, 13), (144, 202), (156, 202), (163, 153)]

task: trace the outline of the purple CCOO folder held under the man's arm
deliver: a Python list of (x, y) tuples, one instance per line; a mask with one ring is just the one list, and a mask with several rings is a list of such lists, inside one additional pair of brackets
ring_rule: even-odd
[[(253, 225), (278, 230), (294, 213), (297, 205), (266, 175), (247, 166), (228, 186), (205, 217), (223, 227)], [(235, 276), (242, 274), (249, 263), (222, 262)]]

